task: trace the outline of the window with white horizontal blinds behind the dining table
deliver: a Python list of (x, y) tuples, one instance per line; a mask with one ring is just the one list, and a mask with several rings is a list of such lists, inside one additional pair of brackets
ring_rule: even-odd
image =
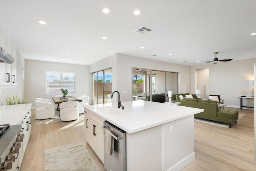
[(75, 93), (75, 83), (75, 73), (46, 72), (46, 93), (60, 93), (61, 88)]

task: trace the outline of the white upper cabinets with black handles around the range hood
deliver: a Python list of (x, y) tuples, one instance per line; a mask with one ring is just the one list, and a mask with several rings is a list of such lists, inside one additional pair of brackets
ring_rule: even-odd
[(0, 85), (17, 85), (17, 50), (2, 28), (0, 28), (0, 46), (14, 58), (12, 64), (0, 63)]

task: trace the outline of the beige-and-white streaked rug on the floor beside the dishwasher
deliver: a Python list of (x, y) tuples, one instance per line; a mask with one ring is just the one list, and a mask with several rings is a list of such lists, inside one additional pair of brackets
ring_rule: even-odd
[(44, 151), (44, 171), (99, 171), (82, 141)]

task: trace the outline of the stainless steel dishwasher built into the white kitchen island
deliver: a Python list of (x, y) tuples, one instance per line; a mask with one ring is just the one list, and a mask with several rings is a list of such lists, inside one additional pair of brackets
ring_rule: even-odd
[(126, 132), (108, 121), (104, 121), (104, 129), (114, 135), (114, 152), (106, 153), (106, 132), (104, 131), (104, 167), (107, 171), (126, 171)]

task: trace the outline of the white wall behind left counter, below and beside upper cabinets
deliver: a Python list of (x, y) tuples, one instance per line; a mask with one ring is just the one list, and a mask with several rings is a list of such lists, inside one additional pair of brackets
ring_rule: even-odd
[(25, 60), (18, 52), (17, 56), (17, 86), (12, 88), (0, 88), (1, 105), (6, 105), (7, 96), (17, 95), (19, 99), (25, 99), (25, 80), (22, 79), (22, 68), (25, 68)]

